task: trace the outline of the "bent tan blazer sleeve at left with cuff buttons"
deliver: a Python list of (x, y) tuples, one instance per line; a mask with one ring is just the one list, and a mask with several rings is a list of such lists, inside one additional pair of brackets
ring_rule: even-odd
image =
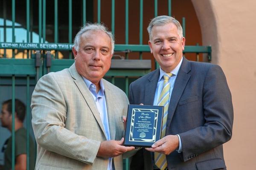
[(32, 94), (32, 127), (45, 150), (93, 164), (100, 141), (87, 139), (65, 128), (67, 105), (53, 74), (42, 77)]

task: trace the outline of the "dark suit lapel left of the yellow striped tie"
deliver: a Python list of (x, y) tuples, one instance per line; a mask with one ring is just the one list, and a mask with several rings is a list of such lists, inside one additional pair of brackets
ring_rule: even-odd
[(159, 69), (157, 69), (152, 72), (152, 75), (150, 77), (148, 77), (148, 82), (145, 83), (145, 102), (143, 103), (144, 105), (153, 105), (159, 75), (160, 71)]

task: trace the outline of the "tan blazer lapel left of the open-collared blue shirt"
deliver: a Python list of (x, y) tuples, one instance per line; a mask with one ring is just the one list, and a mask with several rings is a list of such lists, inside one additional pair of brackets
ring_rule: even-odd
[(82, 96), (85, 99), (85, 102), (89, 106), (91, 112), (93, 113), (96, 121), (99, 123), (100, 128), (102, 129), (102, 132), (105, 134), (105, 130), (102, 124), (102, 121), (99, 116), (99, 111), (97, 109), (96, 103), (94, 102), (93, 96), (90, 94), (89, 89), (87, 88), (86, 84), (84, 83), (84, 79), (81, 77), (81, 75), (76, 71), (75, 63), (70, 66), (69, 68), (70, 74), (74, 79), (74, 82), (81, 92)]

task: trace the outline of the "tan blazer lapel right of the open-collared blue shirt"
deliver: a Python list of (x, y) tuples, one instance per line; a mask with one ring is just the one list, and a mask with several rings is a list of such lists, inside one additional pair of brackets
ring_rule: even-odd
[(105, 82), (105, 79), (102, 79), (105, 87), (105, 98), (106, 98), (106, 105), (107, 105), (107, 111), (108, 111), (108, 126), (109, 126), (109, 131), (110, 131), (110, 138), (112, 140), (115, 140), (116, 138), (116, 119), (115, 119), (115, 108), (113, 107), (115, 101), (113, 99), (113, 91), (111, 91), (111, 88), (109, 88), (108, 84)]

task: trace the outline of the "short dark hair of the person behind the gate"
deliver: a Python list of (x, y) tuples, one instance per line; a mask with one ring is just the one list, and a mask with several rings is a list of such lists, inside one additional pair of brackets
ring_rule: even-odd
[[(3, 105), (6, 105), (7, 111), (12, 114), (12, 99), (6, 100), (2, 103)], [(19, 99), (15, 99), (15, 112), (17, 113), (17, 118), (23, 122), (26, 115), (26, 106)]]

